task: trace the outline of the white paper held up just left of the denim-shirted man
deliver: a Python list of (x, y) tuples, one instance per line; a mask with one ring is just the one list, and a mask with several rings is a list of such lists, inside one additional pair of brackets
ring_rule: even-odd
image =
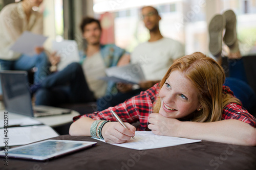
[(80, 61), (78, 45), (75, 40), (52, 41), (52, 50), (60, 56), (60, 62), (57, 65), (58, 70), (62, 70), (72, 62)]

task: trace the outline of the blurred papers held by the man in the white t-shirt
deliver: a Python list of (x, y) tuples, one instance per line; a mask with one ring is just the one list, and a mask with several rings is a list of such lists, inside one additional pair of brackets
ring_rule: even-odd
[(127, 84), (139, 84), (145, 80), (142, 68), (139, 64), (110, 67), (105, 70), (106, 76), (100, 78), (105, 81), (121, 82)]

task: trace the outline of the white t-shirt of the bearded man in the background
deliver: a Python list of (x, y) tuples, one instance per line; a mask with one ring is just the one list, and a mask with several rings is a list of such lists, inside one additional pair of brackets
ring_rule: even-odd
[(140, 63), (146, 80), (161, 80), (170, 65), (184, 56), (184, 47), (178, 41), (161, 38), (139, 44), (131, 54), (131, 63)]

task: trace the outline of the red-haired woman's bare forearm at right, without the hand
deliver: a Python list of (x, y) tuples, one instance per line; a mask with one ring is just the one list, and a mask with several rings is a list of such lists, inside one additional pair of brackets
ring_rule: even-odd
[(256, 145), (256, 128), (240, 120), (228, 119), (211, 123), (181, 122), (178, 129), (179, 137)]

